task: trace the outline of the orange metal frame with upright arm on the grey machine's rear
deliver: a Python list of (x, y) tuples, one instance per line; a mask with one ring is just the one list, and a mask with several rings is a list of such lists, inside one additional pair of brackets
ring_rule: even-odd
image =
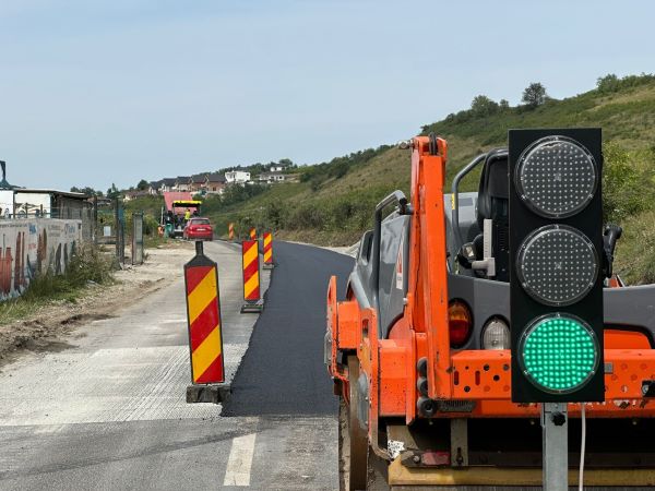
[[(327, 324), (332, 333), (330, 372), (347, 394), (347, 369), (337, 355), (357, 352), (360, 373), (369, 381), (369, 438), (380, 417), (416, 417), (416, 362), (428, 359), (429, 396), (441, 400), (475, 400), (466, 414), (441, 417), (538, 417), (536, 404), (511, 402), (509, 350), (452, 350), (449, 339), (448, 272), (443, 185), (448, 145), (438, 139), (437, 155), (429, 139), (413, 141), (409, 280), (403, 318), (389, 339), (378, 339), (376, 312), (360, 309), (353, 292), (336, 301), (336, 280), (327, 291)], [(588, 417), (655, 417), (655, 403), (644, 399), (641, 382), (655, 380), (655, 350), (643, 339), (611, 327), (606, 332), (606, 402), (587, 404)], [(628, 349), (629, 347), (633, 349)], [(622, 349), (611, 349), (622, 348)], [(639, 348), (639, 349), (635, 349)], [(571, 404), (575, 416), (580, 404)], [(372, 441), (372, 440), (371, 440)]]

